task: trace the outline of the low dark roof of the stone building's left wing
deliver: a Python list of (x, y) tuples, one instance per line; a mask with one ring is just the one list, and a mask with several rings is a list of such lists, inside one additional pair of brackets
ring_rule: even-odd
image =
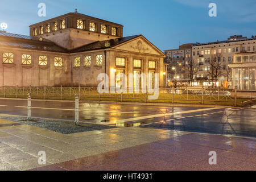
[(68, 53), (67, 49), (57, 46), (55, 43), (47, 39), (40, 39), (20, 34), (11, 34), (5, 31), (0, 31), (0, 46)]

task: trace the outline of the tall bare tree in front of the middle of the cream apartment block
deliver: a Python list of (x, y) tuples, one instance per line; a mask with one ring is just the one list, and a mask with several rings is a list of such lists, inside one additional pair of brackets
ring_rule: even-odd
[[(222, 73), (222, 55), (221, 53), (217, 53), (216, 55), (211, 56), (210, 58), (210, 71), (208, 73), (208, 77), (213, 81), (215, 81), (215, 87), (217, 87), (217, 80), (220, 76), (223, 75)], [(213, 86), (213, 85), (212, 85)]]

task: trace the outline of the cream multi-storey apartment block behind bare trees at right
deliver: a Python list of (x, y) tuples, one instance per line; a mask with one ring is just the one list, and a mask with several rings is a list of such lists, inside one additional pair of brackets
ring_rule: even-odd
[(232, 72), (229, 64), (233, 63), (233, 56), (237, 53), (250, 53), (255, 51), (256, 37), (243, 37), (242, 35), (233, 35), (224, 41), (216, 41), (209, 43), (196, 43), (192, 46), (192, 59), (194, 64), (199, 64), (199, 71), (195, 75), (196, 78), (205, 78), (203, 83), (205, 86), (213, 84), (213, 80), (209, 76), (211, 71), (210, 61), (213, 59), (220, 59), (220, 72), (218, 76), (217, 85), (224, 86), (225, 81), (230, 82), (232, 86)]

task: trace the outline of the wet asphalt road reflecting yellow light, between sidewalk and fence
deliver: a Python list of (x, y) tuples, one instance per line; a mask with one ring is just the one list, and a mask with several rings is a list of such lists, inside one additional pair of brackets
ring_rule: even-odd
[[(0, 100), (1, 114), (26, 115), (27, 101)], [(32, 101), (32, 117), (75, 117), (75, 103)], [(256, 137), (256, 108), (146, 106), (80, 103), (80, 120), (87, 123), (139, 126), (152, 129), (192, 131)]]

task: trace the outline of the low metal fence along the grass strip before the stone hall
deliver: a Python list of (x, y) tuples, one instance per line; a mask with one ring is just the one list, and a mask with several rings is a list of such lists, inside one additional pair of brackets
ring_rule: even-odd
[[(195, 103), (195, 104), (220, 104), (226, 102), (226, 105), (237, 106), (236, 89), (221, 88), (160, 88), (158, 99), (149, 100), (148, 96), (154, 93), (148, 93), (146, 90), (127, 89), (127, 93), (104, 93), (100, 94), (94, 87), (19, 87), (2, 86), (0, 87), (0, 97), (27, 98), (31, 93), (32, 98), (38, 99), (56, 99), (73, 100), (75, 94), (79, 94), (80, 100), (88, 101), (118, 101), (118, 102), (163, 102), (163, 103)], [(245, 100), (241, 100), (244, 102)]]

